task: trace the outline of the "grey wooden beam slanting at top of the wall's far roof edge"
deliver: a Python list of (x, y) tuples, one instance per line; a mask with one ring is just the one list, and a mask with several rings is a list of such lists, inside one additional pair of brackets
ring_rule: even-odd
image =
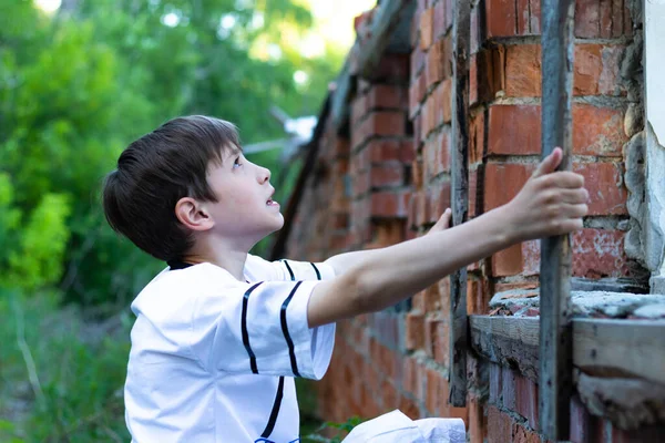
[[(365, 79), (374, 76), (383, 52), (391, 42), (392, 34), (399, 29), (408, 29), (416, 4), (417, 2), (411, 0), (381, 1), (371, 19), (370, 37), (362, 43), (362, 50), (358, 55), (358, 75)], [(410, 48), (407, 53), (409, 50)]]

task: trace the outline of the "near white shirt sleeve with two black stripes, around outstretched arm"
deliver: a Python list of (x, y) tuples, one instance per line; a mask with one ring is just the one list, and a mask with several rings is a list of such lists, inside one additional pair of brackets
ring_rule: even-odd
[(192, 349), (212, 372), (320, 379), (335, 324), (310, 329), (307, 303), (316, 280), (238, 282), (196, 298)]

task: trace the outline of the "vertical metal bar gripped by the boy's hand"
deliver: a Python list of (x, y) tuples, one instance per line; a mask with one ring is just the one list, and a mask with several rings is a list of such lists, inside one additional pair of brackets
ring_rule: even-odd
[[(574, 0), (543, 0), (542, 127), (543, 158), (563, 148), (560, 169), (572, 164)], [(539, 406), (549, 440), (569, 440), (572, 394), (570, 327), (570, 236), (541, 240), (541, 317)]]

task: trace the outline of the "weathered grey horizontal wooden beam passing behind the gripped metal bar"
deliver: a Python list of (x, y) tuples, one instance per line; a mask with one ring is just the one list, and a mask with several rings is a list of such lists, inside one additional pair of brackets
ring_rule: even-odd
[[(538, 317), (469, 317), (475, 352), (538, 381)], [(642, 379), (665, 387), (665, 320), (573, 319), (573, 365), (594, 377)]]

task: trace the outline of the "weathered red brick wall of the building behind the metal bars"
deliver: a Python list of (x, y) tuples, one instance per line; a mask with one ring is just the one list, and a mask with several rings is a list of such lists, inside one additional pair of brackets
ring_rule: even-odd
[[(452, 2), (418, 1), (411, 55), (385, 55), (376, 80), (357, 81), (348, 136), (327, 122), (288, 256), (323, 259), (420, 236), (450, 205)], [(358, 20), (357, 27), (367, 23)], [(471, 31), (469, 216), (475, 217), (508, 203), (539, 162), (540, 1), (480, 1)], [(621, 68), (634, 32), (641, 30), (624, 0), (577, 2), (573, 164), (593, 203), (585, 228), (573, 236), (576, 277), (640, 271), (623, 246), (624, 114), (641, 95)], [(488, 313), (497, 292), (535, 288), (538, 274), (535, 241), (471, 265), (469, 313)], [(510, 369), (470, 359), (468, 406), (448, 404), (448, 279), (413, 296), (406, 308), (339, 324), (319, 395), (326, 420), (399, 408), (412, 418), (460, 416), (472, 442), (541, 441), (538, 387)], [(592, 419), (577, 400), (571, 421), (573, 442), (638, 441)]]

